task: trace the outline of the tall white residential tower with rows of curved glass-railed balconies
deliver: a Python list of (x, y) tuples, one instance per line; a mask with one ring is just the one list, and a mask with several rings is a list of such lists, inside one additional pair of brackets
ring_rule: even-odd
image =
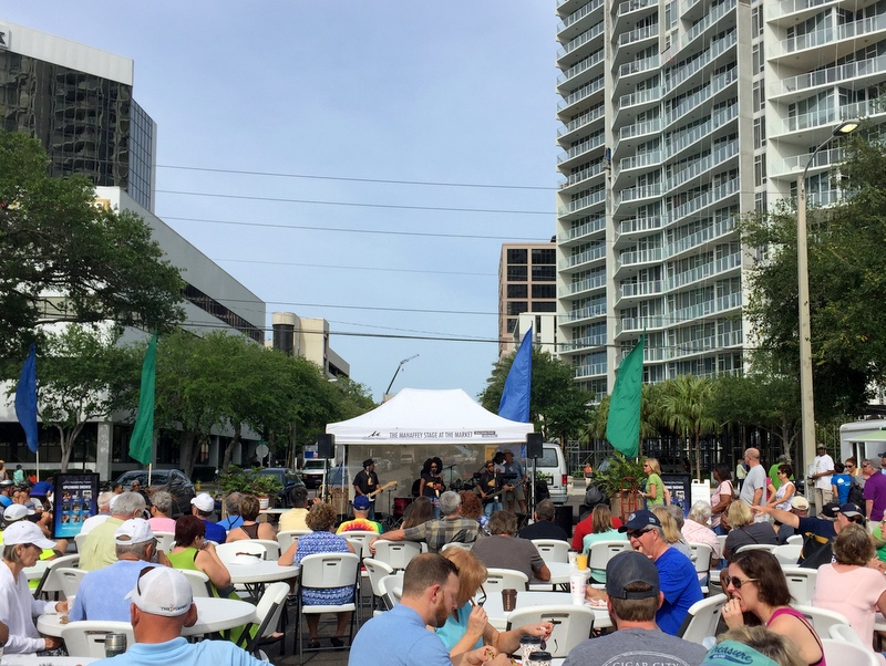
[[(645, 381), (738, 372), (738, 216), (796, 192), (845, 118), (882, 119), (886, 2), (558, 0), (560, 354), (602, 395), (646, 331)], [(806, 178), (827, 204), (838, 144)], [(755, 251), (755, 250), (753, 250)]]

